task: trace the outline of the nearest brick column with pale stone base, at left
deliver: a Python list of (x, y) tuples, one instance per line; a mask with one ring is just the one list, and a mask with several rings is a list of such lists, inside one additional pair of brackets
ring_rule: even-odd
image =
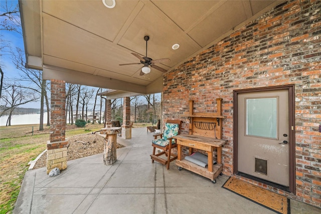
[(47, 142), (47, 174), (58, 167), (67, 168), (65, 81), (51, 80), (50, 141)]

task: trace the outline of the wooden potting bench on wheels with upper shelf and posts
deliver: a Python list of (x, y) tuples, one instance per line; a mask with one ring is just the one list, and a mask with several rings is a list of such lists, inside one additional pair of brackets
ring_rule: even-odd
[[(222, 173), (222, 145), (227, 140), (222, 140), (222, 99), (217, 98), (217, 113), (193, 113), (194, 101), (190, 100), (190, 127), (189, 134), (174, 136), (178, 149), (176, 165), (179, 170), (185, 168), (194, 173), (200, 174), (216, 183), (215, 178)], [(182, 146), (189, 147), (189, 155), (193, 149), (203, 150), (208, 156), (208, 168), (204, 168), (188, 160), (182, 159)], [(213, 151), (217, 151), (217, 164), (213, 165)]]

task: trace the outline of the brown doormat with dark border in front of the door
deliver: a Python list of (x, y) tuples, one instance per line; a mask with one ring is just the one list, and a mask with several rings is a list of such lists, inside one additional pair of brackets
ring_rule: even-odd
[(290, 200), (283, 195), (276, 194), (235, 177), (230, 177), (222, 187), (276, 213), (290, 213)]

